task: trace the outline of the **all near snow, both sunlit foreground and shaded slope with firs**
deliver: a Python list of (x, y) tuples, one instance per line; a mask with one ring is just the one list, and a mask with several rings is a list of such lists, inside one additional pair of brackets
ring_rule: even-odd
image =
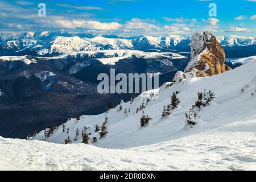
[[(168, 84), (168, 83), (167, 83)], [(30, 140), (0, 137), (0, 169), (24, 170), (255, 170), (256, 169), (256, 61), (212, 77), (187, 78), (171, 86), (142, 93), (107, 113), (71, 119), (44, 138)], [(185, 127), (185, 115), (204, 89), (215, 93), (210, 105), (199, 111), (199, 123)], [(163, 106), (179, 90), (180, 105), (161, 119)], [(154, 94), (152, 94), (154, 93)], [(146, 104), (146, 100), (149, 99)], [(140, 127), (142, 111), (152, 119)], [(130, 113), (124, 113), (125, 108)], [(90, 139), (96, 123), (108, 116), (108, 136), (94, 144), (81, 143), (84, 127)], [(67, 134), (67, 128), (70, 129)], [(80, 134), (75, 141), (76, 130)], [(70, 137), (72, 144), (63, 144)], [(52, 142), (52, 143), (49, 143)]]

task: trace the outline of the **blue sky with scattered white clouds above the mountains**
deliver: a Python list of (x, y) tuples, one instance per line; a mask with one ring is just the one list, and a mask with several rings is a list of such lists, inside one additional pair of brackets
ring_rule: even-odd
[(206, 30), (256, 37), (256, 0), (0, 1), (0, 32), (191, 36)]

